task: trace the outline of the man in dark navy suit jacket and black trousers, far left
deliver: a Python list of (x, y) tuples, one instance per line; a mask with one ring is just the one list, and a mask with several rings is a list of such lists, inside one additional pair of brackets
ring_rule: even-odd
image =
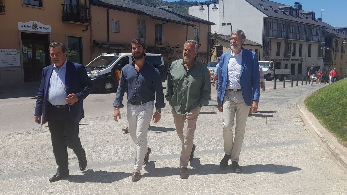
[(57, 173), (49, 179), (53, 182), (69, 176), (67, 147), (75, 152), (80, 170), (87, 166), (78, 130), (84, 117), (83, 100), (92, 92), (93, 84), (83, 65), (67, 60), (64, 44), (53, 42), (49, 51), (53, 64), (42, 70), (34, 119), (42, 125), (48, 122), (58, 164)]

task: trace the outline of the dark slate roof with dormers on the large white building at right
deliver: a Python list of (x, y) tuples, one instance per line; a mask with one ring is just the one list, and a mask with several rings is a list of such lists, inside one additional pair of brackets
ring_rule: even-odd
[[(294, 9), (299, 10), (299, 17), (296, 17), (296, 16), (289, 15), (288, 12), (285, 14), (281, 10), (278, 10), (279, 7), (281, 7), (281, 6), (291, 7), (291, 6), (287, 6), (285, 4), (282, 4), (282, 3), (277, 3), (277, 2), (273, 2), (273, 1), (269, 1), (269, 0), (245, 0), (245, 1), (247, 1), (252, 6), (254, 6), (256, 9), (260, 10), (265, 15), (270, 16), (270, 17), (281, 18), (281, 19), (286, 19), (286, 20), (294, 20), (294, 21), (300, 22), (300, 23), (327, 27), (326, 23), (323, 23), (323, 22), (319, 21), (318, 19), (313, 20), (311, 18), (305, 18), (303, 15), (301, 15), (301, 13), (308, 13), (308, 12), (304, 11), (302, 9), (294, 8)], [(262, 7), (260, 7), (259, 3), (261, 3), (263, 5), (263, 7), (266, 8), (266, 10), (263, 9)], [(274, 11), (269, 6), (272, 6), (273, 9), (277, 9), (278, 11)]]

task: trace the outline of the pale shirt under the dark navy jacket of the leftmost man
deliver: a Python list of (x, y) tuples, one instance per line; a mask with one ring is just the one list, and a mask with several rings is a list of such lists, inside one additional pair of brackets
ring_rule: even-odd
[(49, 79), (49, 89), (48, 89), (48, 101), (52, 105), (65, 105), (67, 104), (66, 97), (66, 63), (58, 69), (56, 65), (53, 65), (53, 72), (51, 78)]

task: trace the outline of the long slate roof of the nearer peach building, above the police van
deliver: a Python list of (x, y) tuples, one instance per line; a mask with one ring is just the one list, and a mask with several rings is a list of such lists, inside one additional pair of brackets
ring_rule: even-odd
[(195, 26), (195, 24), (189, 23), (182, 17), (176, 16), (160, 8), (145, 6), (138, 3), (133, 3), (125, 0), (91, 0), (91, 5), (110, 6), (112, 8), (129, 11), (139, 15), (146, 15), (153, 19), (163, 20), (166, 22), (172, 22), (177, 24), (183, 24), (188, 26)]

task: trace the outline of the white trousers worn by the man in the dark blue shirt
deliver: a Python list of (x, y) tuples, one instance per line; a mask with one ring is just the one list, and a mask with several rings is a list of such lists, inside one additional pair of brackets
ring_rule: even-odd
[(136, 144), (134, 169), (141, 170), (147, 147), (147, 132), (153, 115), (154, 101), (141, 105), (127, 104), (128, 131)]

